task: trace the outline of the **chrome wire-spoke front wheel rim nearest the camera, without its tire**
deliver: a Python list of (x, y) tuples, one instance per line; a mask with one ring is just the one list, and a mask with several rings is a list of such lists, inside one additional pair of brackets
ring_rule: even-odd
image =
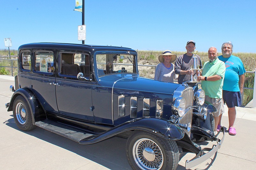
[(163, 154), (160, 147), (151, 139), (141, 138), (132, 148), (133, 159), (140, 169), (157, 170), (163, 165)]

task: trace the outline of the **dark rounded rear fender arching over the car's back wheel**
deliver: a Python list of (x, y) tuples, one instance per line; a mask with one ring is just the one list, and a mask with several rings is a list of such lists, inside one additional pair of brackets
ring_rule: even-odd
[(7, 111), (13, 110), (13, 103), (15, 101), (15, 98), (19, 95), (22, 95), (30, 106), (33, 124), (35, 124), (36, 121), (40, 120), (41, 117), (46, 118), (45, 111), (43, 110), (41, 104), (39, 103), (34, 93), (28, 88), (18, 89), (13, 93), (13, 95), (11, 96), (10, 105)]

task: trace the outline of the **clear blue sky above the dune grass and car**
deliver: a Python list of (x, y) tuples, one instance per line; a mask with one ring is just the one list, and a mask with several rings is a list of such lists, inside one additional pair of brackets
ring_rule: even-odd
[[(185, 51), (194, 40), (198, 51), (256, 53), (255, 0), (85, 0), (86, 44), (135, 50)], [(1, 0), (0, 49), (11, 38), (18, 49), (31, 42), (78, 43), (82, 13), (75, 0)]]

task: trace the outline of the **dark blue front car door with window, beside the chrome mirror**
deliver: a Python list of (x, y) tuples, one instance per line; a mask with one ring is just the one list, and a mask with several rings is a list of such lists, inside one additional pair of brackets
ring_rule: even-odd
[[(57, 106), (62, 116), (94, 122), (92, 81), (77, 78), (80, 72), (85, 76), (91, 75), (90, 63), (88, 53), (60, 52), (58, 54), (58, 75), (55, 87)], [(84, 68), (84, 66), (87, 67)]]

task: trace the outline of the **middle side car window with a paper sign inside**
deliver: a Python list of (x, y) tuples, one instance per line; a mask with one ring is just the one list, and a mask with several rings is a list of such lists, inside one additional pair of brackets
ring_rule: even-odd
[(36, 51), (35, 52), (35, 71), (52, 73), (53, 68), (53, 52)]

